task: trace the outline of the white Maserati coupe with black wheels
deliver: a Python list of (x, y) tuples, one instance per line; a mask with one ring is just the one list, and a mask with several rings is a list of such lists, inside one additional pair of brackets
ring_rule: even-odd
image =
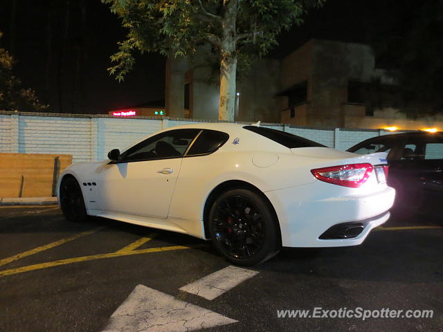
[(287, 247), (354, 246), (389, 218), (386, 153), (357, 155), (259, 124), (186, 124), (60, 176), (69, 221), (89, 216), (211, 239), (234, 264)]

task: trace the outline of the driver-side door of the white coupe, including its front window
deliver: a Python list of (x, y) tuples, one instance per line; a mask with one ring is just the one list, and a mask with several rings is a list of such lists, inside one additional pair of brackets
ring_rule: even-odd
[(165, 219), (181, 161), (199, 129), (175, 129), (129, 148), (100, 170), (102, 210)]

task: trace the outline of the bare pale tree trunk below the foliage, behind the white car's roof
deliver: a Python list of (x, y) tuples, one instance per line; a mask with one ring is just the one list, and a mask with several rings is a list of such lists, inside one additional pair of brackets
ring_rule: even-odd
[(219, 120), (234, 120), (236, 71), (237, 57), (225, 56), (221, 59)]

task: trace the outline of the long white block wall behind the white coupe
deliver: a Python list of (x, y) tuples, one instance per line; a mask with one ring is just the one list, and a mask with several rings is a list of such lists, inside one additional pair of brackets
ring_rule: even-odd
[[(0, 152), (71, 154), (73, 162), (103, 160), (110, 149), (124, 149), (160, 129), (192, 122), (173, 118), (123, 119), (105, 115), (0, 111)], [(376, 129), (308, 128), (278, 123), (262, 125), (341, 150), (367, 138), (390, 133)]]

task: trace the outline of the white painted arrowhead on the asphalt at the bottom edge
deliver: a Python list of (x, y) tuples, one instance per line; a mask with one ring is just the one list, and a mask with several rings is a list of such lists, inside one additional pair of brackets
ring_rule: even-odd
[(184, 332), (232, 324), (237, 320), (138, 285), (102, 332)]

